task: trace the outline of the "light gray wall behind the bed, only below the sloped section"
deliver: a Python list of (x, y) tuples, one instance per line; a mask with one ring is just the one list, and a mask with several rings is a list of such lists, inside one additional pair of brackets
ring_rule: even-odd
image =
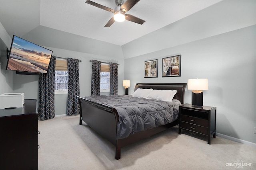
[[(125, 60), (124, 76), (137, 82), (208, 78), (204, 106), (217, 107), (217, 133), (256, 143), (256, 25)], [(181, 54), (181, 76), (162, 77), (162, 58)], [(144, 61), (158, 59), (158, 78), (144, 78)], [(131, 66), (130, 69), (128, 66)], [(191, 90), (185, 92), (191, 103)]]

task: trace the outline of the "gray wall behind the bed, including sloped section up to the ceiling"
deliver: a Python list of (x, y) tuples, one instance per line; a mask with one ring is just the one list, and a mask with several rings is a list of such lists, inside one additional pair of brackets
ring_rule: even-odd
[[(217, 133), (256, 143), (255, 7), (256, 1), (219, 2), (123, 45), (129, 94), (137, 82), (208, 78), (204, 105), (217, 107)], [(181, 55), (181, 77), (162, 77), (162, 58), (174, 55)], [(144, 78), (144, 61), (152, 59), (158, 78)], [(191, 103), (191, 90), (184, 102)]]

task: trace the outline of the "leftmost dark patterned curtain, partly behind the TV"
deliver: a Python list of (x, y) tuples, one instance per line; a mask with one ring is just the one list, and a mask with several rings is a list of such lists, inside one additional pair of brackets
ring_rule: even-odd
[(55, 61), (52, 56), (48, 73), (41, 73), (39, 77), (39, 100), (38, 100), (38, 119), (53, 119), (54, 114), (54, 80), (55, 80)]

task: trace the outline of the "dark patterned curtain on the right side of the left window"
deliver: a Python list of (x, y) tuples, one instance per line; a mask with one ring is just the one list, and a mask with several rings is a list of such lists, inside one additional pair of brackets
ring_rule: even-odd
[(68, 102), (67, 102), (67, 115), (78, 115), (80, 113), (80, 106), (78, 98), (80, 96), (79, 87), (79, 69), (78, 59), (67, 59), (68, 63)]

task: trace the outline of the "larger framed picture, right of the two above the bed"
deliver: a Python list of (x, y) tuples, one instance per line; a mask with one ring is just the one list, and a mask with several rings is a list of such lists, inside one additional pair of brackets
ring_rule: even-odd
[(162, 77), (181, 76), (181, 55), (163, 58)]

